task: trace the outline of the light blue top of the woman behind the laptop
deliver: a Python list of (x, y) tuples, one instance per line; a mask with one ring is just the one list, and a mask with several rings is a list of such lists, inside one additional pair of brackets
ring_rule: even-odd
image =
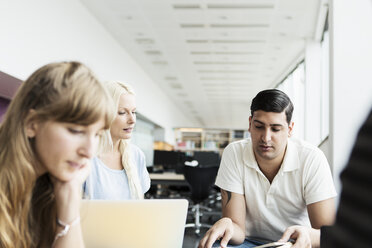
[[(150, 177), (146, 169), (143, 152), (130, 144), (131, 160), (137, 167), (138, 178), (143, 193), (150, 189)], [(92, 170), (83, 185), (84, 197), (102, 200), (130, 200), (132, 199), (125, 170), (113, 170), (107, 167), (98, 157), (92, 159)]]

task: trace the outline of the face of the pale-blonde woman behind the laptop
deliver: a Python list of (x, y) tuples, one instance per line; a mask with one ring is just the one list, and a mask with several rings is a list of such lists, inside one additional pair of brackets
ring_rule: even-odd
[(136, 99), (133, 94), (121, 94), (118, 113), (111, 124), (110, 133), (113, 140), (130, 139), (136, 124)]

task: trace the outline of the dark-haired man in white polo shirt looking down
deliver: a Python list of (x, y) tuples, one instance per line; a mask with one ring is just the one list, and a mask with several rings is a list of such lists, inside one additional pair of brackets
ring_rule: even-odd
[[(233, 142), (223, 153), (216, 185), (222, 215), (199, 248), (254, 247), (281, 238), (289, 226), (319, 229), (333, 223), (334, 188), (324, 154), (304, 141), (289, 139), (293, 105), (280, 90), (264, 90), (252, 100), (251, 138)], [(310, 237), (309, 237), (310, 239)], [(296, 247), (310, 247), (301, 239)], [(216, 246), (218, 245), (218, 246)]]

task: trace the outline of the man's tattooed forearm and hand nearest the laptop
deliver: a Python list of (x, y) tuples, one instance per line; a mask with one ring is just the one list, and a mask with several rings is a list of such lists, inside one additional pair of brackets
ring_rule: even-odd
[(231, 241), (241, 244), (245, 239), (245, 198), (244, 195), (221, 189), (222, 219), (217, 221), (199, 243), (199, 248), (210, 248), (221, 239), (221, 247)]

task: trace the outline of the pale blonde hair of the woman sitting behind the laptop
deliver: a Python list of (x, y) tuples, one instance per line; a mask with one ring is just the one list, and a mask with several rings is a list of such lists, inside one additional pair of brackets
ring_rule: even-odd
[[(111, 95), (115, 108), (115, 115), (118, 115), (119, 100), (122, 94), (135, 95), (133, 89), (128, 84), (111, 81), (105, 84), (109, 94)], [(132, 199), (143, 199), (143, 191), (141, 183), (138, 177), (138, 170), (136, 164), (132, 161), (130, 156), (130, 143), (129, 140), (121, 139), (119, 143), (119, 152), (121, 154), (121, 163), (128, 177), (128, 184)], [(113, 143), (110, 131), (105, 131), (103, 138), (100, 143), (100, 151), (107, 152), (112, 151)]]

